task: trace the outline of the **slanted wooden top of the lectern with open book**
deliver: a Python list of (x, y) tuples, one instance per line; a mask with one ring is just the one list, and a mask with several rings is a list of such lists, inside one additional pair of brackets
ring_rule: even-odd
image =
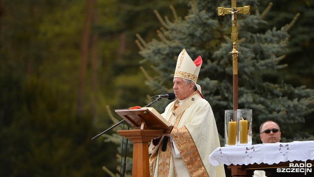
[(173, 126), (163, 118), (154, 108), (144, 107), (140, 109), (122, 109), (115, 112), (125, 119), (135, 129), (163, 129), (164, 133), (170, 133)]

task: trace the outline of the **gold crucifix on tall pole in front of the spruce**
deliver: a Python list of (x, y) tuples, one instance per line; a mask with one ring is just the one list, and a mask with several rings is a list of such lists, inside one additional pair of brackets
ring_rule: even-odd
[(238, 85), (237, 85), (237, 55), (240, 53), (236, 50), (237, 36), (237, 25), (236, 25), (236, 14), (250, 14), (250, 6), (236, 7), (236, 0), (231, 0), (231, 8), (218, 7), (218, 16), (225, 14), (231, 14), (232, 23), (232, 33), (231, 40), (233, 42), (233, 50), (230, 52), (232, 54), (232, 72), (233, 72), (233, 109), (238, 109)]

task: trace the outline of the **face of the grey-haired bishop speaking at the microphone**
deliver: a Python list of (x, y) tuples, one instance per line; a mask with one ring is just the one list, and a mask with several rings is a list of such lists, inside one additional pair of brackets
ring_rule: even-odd
[(173, 91), (178, 99), (183, 100), (194, 92), (194, 83), (186, 85), (182, 78), (173, 79)]

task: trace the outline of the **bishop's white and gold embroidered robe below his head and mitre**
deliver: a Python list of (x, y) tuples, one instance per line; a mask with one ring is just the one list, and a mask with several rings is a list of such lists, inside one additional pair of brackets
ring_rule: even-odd
[[(151, 155), (151, 177), (225, 177), (223, 165), (215, 167), (208, 160), (209, 154), (220, 147), (209, 103), (198, 92), (194, 92), (177, 109), (176, 102), (170, 103), (161, 114), (174, 125), (170, 134), (172, 142), (169, 138), (164, 151), (160, 145)], [(180, 154), (175, 154), (173, 144)]]

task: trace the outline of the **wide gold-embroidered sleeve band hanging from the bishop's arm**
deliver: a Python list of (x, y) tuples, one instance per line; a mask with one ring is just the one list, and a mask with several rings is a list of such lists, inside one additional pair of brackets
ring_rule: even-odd
[(176, 142), (189, 175), (191, 177), (208, 177), (209, 175), (188, 129), (185, 126), (173, 129), (171, 135)]

